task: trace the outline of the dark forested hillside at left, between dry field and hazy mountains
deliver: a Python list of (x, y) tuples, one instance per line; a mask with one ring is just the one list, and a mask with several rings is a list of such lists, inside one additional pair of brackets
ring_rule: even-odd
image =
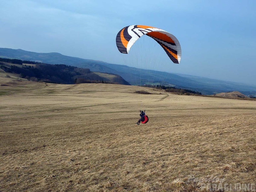
[(64, 64), (45, 64), (20, 59), (0, 58), (0, 67), (5, 72), (19, 74), (21, 78), (49, 83), (113, 83), (129, 85), (122, 77), (115, 74), (95, 73)]

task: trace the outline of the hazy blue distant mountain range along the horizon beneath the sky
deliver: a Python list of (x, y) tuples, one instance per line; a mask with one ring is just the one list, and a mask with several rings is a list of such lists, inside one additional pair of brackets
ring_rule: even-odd
[(256, 95), (255, 85), (214, 80), (184, 74), (137, 69), (126, 65), (69, 57), (60, 53), (36, 53), (22, 49), (0, 48), (0, 57), (31, 60), (49, 64), (66, 64), (79, 68), (88, 68), (95, 72), (118, 74), (131, 85), (157, 84), (160, 82), (163, 85), (199, 91), (206, 95), (229, 91), (240, 91), (245, 95)]

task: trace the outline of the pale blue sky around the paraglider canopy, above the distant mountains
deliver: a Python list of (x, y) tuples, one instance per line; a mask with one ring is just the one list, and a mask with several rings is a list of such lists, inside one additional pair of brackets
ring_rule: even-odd
[(2, 0), (0, 47), (127, 64), (116, 34), (148, 25), (181, 44), (180, 64), (165, 71), (255, 85), (255, 9), (254, 0)]

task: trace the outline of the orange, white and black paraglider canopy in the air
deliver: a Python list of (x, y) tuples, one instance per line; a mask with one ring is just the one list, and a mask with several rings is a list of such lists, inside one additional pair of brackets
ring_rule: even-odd
[(159, 28), (144, 25), (130, 25), (121, 29), (116, 36), (116, 46), (121, 53), (128, 54), (133, 44), (143, 35), (147, 35), (161, 45), (174, 63), (181, 59), (181, 47), (178, 39)]

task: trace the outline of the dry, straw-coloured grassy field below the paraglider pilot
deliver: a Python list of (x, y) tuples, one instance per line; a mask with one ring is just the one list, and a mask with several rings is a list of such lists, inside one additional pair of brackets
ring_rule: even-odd
[(252, 99), (0, 78), (0, 110), (1, 192), (255, 189)]

